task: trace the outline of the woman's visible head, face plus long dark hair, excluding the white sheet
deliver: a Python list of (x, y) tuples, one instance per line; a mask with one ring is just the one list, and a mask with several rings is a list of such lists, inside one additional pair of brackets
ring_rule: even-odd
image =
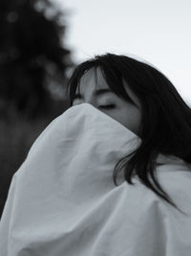
[[(123, 163), (128, 183), (132, 184), (135, 171), (145, 186), (176, 206), (155, 175), (159, 153), (177, 156), (191, 164), (191, 109), (172, 82), (147, 63), (106, 54), (79, 64), (68, 90), (71, 106), (94, 105), (141, 138), (141, 145), (132, 152), (131, 159), (127, 155), (117, 167)], [(115, 184), (120, 170), (117, 167)]]

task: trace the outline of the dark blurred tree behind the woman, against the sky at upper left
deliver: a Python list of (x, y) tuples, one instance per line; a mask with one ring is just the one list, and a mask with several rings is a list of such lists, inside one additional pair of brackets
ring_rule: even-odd
[(67, 68), (63, 12), (49, 0), (0, 1), (0, 114), (10, 105), (30, 118), (48, 114), (64, 97)]

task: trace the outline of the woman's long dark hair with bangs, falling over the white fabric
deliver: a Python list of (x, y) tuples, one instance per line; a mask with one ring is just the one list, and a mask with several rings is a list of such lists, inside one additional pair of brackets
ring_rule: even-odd
[[(162, 153), (175, 155), (191, 163), (191, 108), (159, 70), (137, 59), (109, 53), (86, 60), (75, 67), (67, 84), (71, 106), (81, 77), (96, 67), (100, 68), (108, 86), (117, 96), (129, 101), (122, 82), (124, 79), (138, 96), (142, 107), (141, 144), (136, 151), (118, 161), (113, 173), (115, 185), (117, 172), (124, 167), (124, 177), (129, 184), (134, 184), (131, 178), (135, 172), (146, 187), (177, 208), (159, 184), (155, 160)], [(129, 159), (130, 155), (133, 156)]]

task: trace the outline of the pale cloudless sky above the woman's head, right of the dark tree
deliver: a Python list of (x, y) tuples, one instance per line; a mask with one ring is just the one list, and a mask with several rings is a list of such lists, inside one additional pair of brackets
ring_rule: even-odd
[(79, 63), (106, 52), (143, 58), (191, 105), (190, 0), (52, 0), (66, 16), (65, 44)]

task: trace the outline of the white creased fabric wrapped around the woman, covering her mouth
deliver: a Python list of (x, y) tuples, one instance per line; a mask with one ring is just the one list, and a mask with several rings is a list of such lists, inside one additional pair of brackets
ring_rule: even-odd
[(159, 181), (183, 216), (134, 176), (113, 182), (138, 136), (93, 105), (73, 106), (33, 143), (13, 175), (1, 256), (190, 256), (191, 172), (159, 155)]

